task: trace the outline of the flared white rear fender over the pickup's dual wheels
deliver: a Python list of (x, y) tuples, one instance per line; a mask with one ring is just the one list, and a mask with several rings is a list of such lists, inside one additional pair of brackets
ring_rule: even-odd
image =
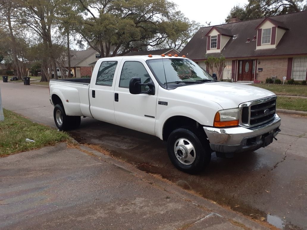
[(59, 96), (68, 116), (83, 116), (80, 108), (80, 98), (77, 89), (69, 86), (51, 85), (50, 98), (53, 94)]

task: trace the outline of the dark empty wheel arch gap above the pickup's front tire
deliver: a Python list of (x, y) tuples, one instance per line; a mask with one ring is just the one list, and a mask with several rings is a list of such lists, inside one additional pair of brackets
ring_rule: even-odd
[(184, 117), (184, 116), (174, 116), (174, 117), (170, 117), (169, 119), (167, 119), (167, 121), (164, 123), (163, 126), (163, 140), (167, 140), (169, 137), (169, 134), (171, 132), (173, 132), (173, 130), (175, 130), (176, 128), (180, 128), (183, 126), (189, 126), (189, 127), (193, 127), (196, 128), (197, 130), (199, 130), (200, 133), (206, 135), (206, 133), (204, 132), (204, 129), (202, 128), (202, 125), (200, 125), (200, 123), (198, 123), (197, 121), (195, 121), (194, 119), (190, 118), (190, 117)]

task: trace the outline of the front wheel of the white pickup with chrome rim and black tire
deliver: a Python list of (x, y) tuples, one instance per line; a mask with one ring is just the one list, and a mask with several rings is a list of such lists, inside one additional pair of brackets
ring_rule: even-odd
[(211, 160), (209, 143), (193, 128), (177, 128), (171, 132), (167, 152), (177, 169), (190, 174), (204, 170)]

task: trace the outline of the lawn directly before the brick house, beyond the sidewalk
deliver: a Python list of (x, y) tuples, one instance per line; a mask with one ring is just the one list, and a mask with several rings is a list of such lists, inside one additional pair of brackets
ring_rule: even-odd
[(307, 96), (307, 86), (278, 85), (265, 83), (251, 84), (251, 86), (257, 86), (266, 90), (270, 90), (275, 94)]

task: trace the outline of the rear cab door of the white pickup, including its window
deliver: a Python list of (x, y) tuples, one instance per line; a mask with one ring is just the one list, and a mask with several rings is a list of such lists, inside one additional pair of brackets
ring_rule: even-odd
[[(98, 63), (97, 63), (98, 64)], [(97, 65), (96, 64), (96, 65)], [(91, 81), (89, 89), (92, 116), (100, 121), (116, 124), (114, 117), (114, 87), (118, 61), (108, 60), (100, 63), (96, 81)]]

